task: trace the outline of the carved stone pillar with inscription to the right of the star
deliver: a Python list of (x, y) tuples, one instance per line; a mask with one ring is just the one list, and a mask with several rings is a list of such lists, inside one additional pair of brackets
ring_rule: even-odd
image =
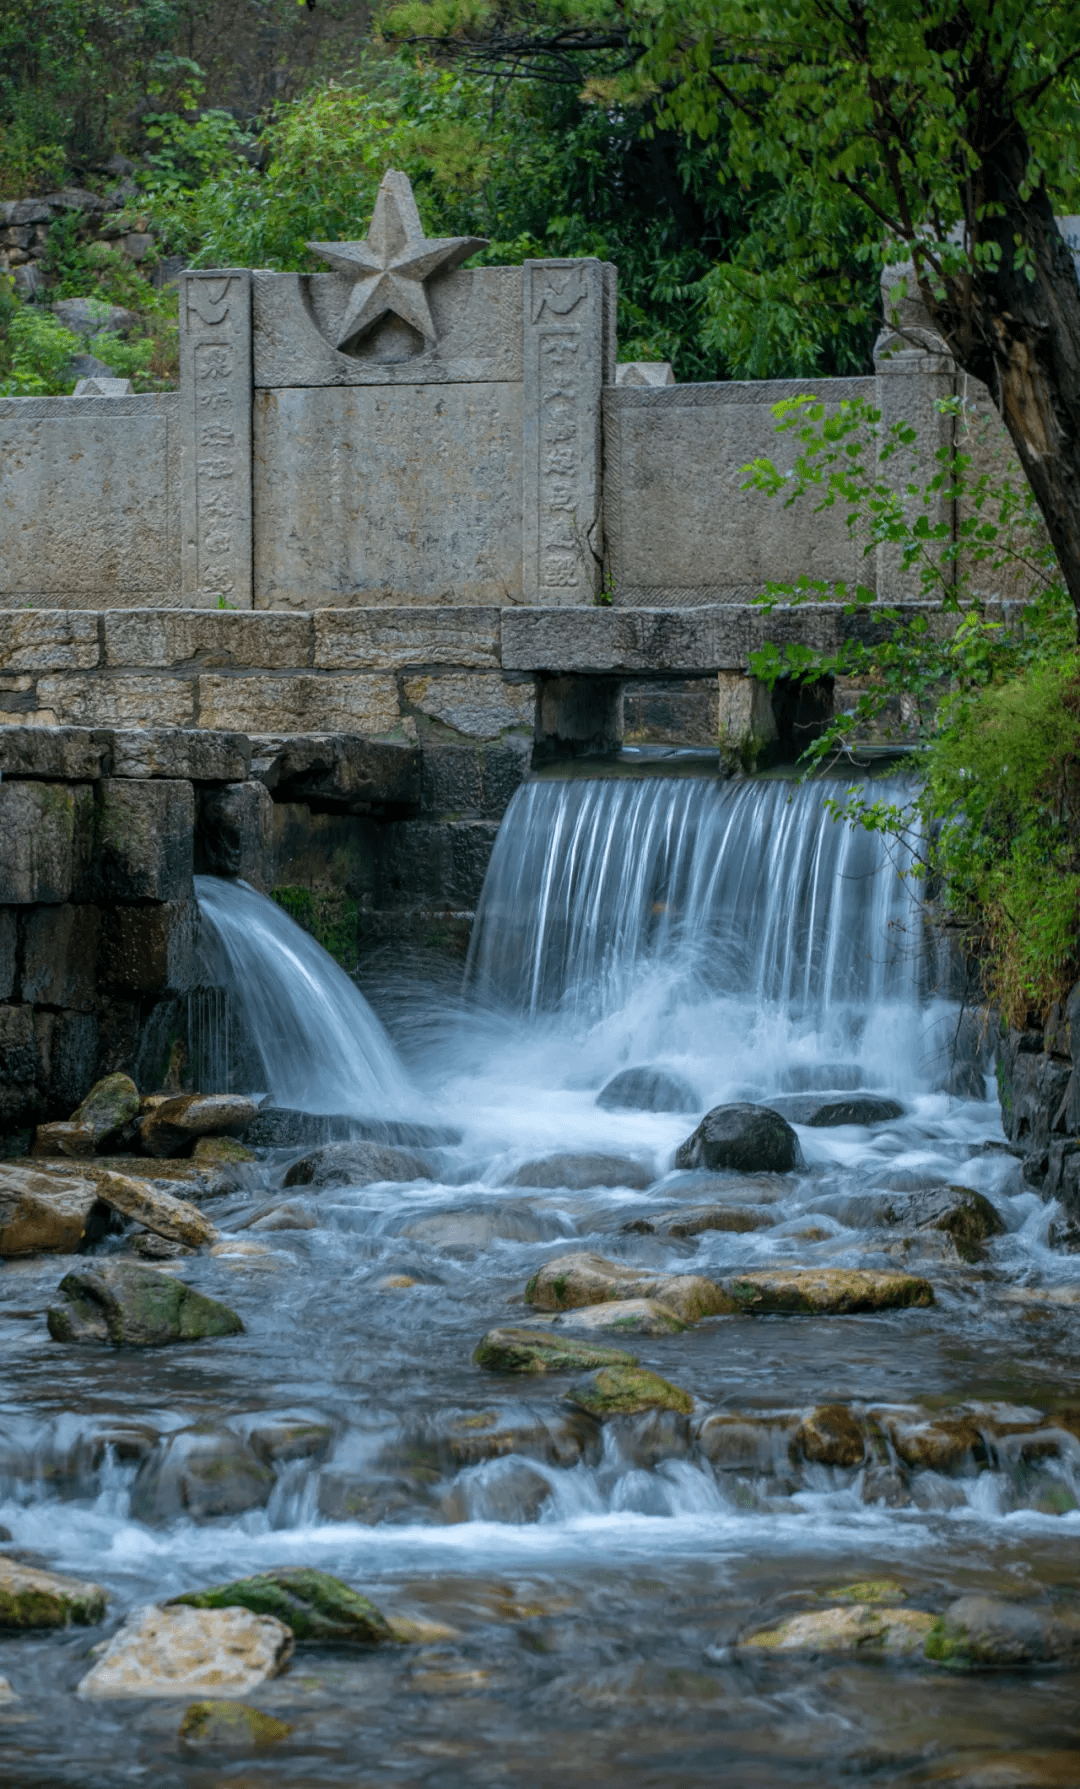
[[(601, 390), (613, 270), (526, 261), (522, 598), (592, 603), (601, 580)], [(612, 369), (613, 377), (613, 369)]]

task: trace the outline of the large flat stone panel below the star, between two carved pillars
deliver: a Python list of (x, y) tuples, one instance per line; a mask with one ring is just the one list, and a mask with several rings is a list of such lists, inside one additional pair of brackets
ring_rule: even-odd
[(256, 608), (520, 598), (522, 388), (256, 392)]

